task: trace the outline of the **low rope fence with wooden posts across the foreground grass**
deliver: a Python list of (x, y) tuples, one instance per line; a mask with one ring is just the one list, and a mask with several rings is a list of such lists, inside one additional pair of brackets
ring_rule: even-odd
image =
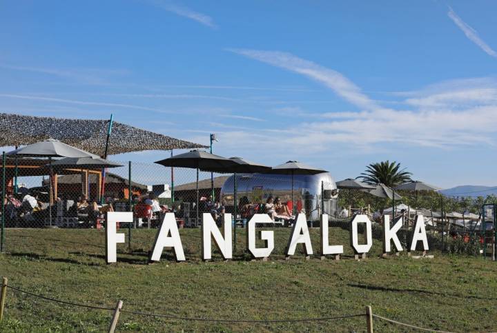
[(454, 333), (454, 332), (449, 332), (449, 331), (442, 331), (442, 330), (433, 330), (432, 328), (425, 328), (425, 327), (419, 327), (416, 325), (411, 325), (408, 323), (402, 323), (400, 321), (394, 321), (393, 319), (388, 319), (385, 318), (384, 316), (379, 316), (378, 314), (373, 314), (373, 310), (371, 309), (371, 306), (366, 307), (366, 312), (365, 313), (360, 313), (360, 314), (348, 314), (348, 315), (343, 315), (343, 316), (329, 316), (329, 317), (318, 317), (318, 318), (303, 318), (303, 319), (209, 319), (209, 318), (196, 318), (196, 317), (187, 317), (187, 316), (175, 316), (173, 314), (155, 314), (151, 312), (140, 312), (140, 311), (135, 311), (135, 310), (123, 310), (123, 302), (122, 301), (117, 301), (117, 305), (115, 307), (104, 307), (101, 305), (88, 305), (88, 304), (81, 304), (81, 303), (74, 303), (70, 301), (62, 301), (59, 299), (53, 299), (48, 296), (43, 296), (40, 294), (35, 294), (34, 292), (29, 292), (27, 290), (22, 290), (18, 287), (13, 287), (12, 285), (8, 285), (8, 279), (6, 277), (3, 278), (2, 286), (1, 286), (1, 293), (0, 293), (0, 323), (3, 320), (3, 310), (5, 309), (5, 303), (6, 303), (6, 298), (7, 298), (7, 289), (10, 290), (15, 290), (17, 292), (21, 292), (23, 294), (27, 294), (39, 299), (43, 299), (45, 301), (51, 301), (55, 303), (60, 303), (60, 304), (65, 304), (65, 305), (72, 305), (72, 306), (77, 306), (77, 307), (86, 307), (90, 309), (95, 309), (95, 310), (106, 310), (106, 311), (113, 311), (113, 318), (112, 321), (110, 322), (110, 326), (108, 328), (108, 332), (113, 333), (115, 332), (115, 329), (117, 327), (117, 321), (119, 320), (119, 314), (120, 313), (127, 313), (127, 314), (136, 314), (140, 316), (153, 316), (153, 317), (159, 317), (159, 318), (166, 318), (166, 319), (176, 319), (176, 320), (182, 320), (182, 321), (203, 321), (203, 322), (211, 322), (211, 323), (302, 323), (302, 322), (315, 322), (315, 321), (334, 321), (334, 320), (339, 320), (339, 319), (351, 319), (351, 318), (358, 318), (358, 317), (366, 317), (366, 323), (367, 323), (367, 332), (372, 333), (373, 332), (373, 318), (380, 319), (382, 321), (387, 321), (392, 324), (404, 326), (404, 327), (409, 327), (414, 330), (420, 330), (420, 331), (427, 331), (427, 332), (437, 332), (437, 333)]

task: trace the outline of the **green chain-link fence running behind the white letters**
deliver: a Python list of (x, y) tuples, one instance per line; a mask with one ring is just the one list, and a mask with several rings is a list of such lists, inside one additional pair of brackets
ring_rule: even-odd
[[(361, 213), (375, 222), (373, 230), (381, 230), (381, 215), (392, 214), (391, 208), (378, 211), (366, 203), (361, 208), (347, 207), (351, 198), (340, 199), (339, 208), (339, 194), (329, 174), (211, 174), (155, 163), (119, 163), (117, 168), (88, 170), (77, 165), (50, 168), (47, 159), (6, 159), (2, 168), (5, 227), (99, 229), (106, 212), (130, 211), (134, 219), (129, 228), (156, 228), (164, 212), (175, 212), (179, 228), (196, 227), (207, 212), (217, 221), (231, 213), (233, 224), (240, 228), (256, 213), (269, 214), (271, 226), (282, 227), (304, 213), (309, 225), (317, 227), (325, 213), (333, 226), (349, 229), (351, 216)], [(419, 213), (425, 216), (431, 249), (494, 254), (494, 205), (467, 215), (421, 208), (395, 210), (396, 219), (404, 216), (398, 234), (405, 247)], [(381, 232), (373, 236), (380, 239)]]

